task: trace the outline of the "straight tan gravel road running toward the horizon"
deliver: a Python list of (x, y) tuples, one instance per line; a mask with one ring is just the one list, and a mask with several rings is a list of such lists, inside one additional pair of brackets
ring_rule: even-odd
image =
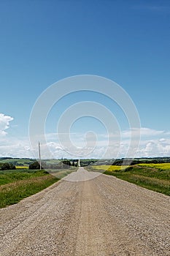
[(1, 256), (170, 255), (168, 196), (82, 167), (77, 176), (0, 209)]

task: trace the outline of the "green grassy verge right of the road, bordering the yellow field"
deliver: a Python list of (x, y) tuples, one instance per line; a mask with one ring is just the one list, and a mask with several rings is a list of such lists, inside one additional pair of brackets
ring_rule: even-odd
[[(170, 195), (170, 170), (158, 167), (148, 167), (148, 165), (134, 165), (126, 169), (111, 167), (104, 171), (104, 174), (115, 176), (155, 192)], [(93, 168), (95, 171), (101, 170), (101, 166)]]

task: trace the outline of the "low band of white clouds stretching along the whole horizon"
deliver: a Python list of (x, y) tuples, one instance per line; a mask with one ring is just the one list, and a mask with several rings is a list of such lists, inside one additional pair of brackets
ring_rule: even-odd
[[(133, 132), (134, 140), (131, 152), (127, 156), (128, 148), (131, 142), (131, 132)], [(138, 132), (141, 133), (139, 148), (136, 148), (138, 143)], [(121, 140), (120, 140), (120, 136)], [(82, 155), (82, 158), (115, 158), (115, 157), (166, 157), (170, 156), (170, 138), (169, 132), (156, 129), (142, 127), (141, 129), (129, 129), (121, 132), (119, 135), (115, 132), (109, 135), (109, 144), (107, 134), (98, 134), (97, 142), (93, 137), (90, 138), (90, 143), (85, 143), (84, 134), (72, 133), (71, 138), (74, 146), (77, 147), (75, 154), (70, 154), (70, 143), (63, 141), (63, 145), (58, 140), (56, 134), (46, 136), (47, 143), (42, 140), (36, 140), (34, 153), (38, 158), (38, 142), (41, 143), (42, 158), (77, 158), (77, 154)], [(66, 136), (67, 138), (67, 136)], [(64, 150), (64, 146), (68, 150)], [(72, 149), (70, 150), (72, 152)], [(77, 152), (77, 154), (76, 154)], [(28, 138), (11, 138), (9, 135), (1, 136), (0, 143), (1, 157), (33, 157)], [(81, 157), (80, 157), (81, 158)]]

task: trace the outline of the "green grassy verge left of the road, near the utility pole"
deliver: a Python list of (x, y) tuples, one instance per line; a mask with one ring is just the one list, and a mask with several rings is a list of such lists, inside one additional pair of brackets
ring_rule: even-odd
[(49, 187), (58, 178), (45, 170), (10, 170), (0, 172), (0, 208), (18, 203), (25, 197)]

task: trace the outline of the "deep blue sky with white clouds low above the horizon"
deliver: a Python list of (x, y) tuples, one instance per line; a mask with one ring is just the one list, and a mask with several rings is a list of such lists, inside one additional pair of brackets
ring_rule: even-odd
[[(44, 158), (72, 158), (77, 152), (80, 158), (125, 157), (131, 133), (137, 143), (139, 132), (139, 148), (131, 157), (170, 156), (169, 24), (166, 0), (0, 1), (0, 157), (37, 156), (28, 133), (34, 105), (49, 86), (77, 75), (117, 83), (134, 102), (140, 127), (129, 125), (122, 106), (107, 97), (107, 87), (100, 94), (99, 86), (82, 91), (81, 84), (80, 91), (65, 95), (49, 110), (46, 143), (39, 136)], [(56, 98), (62, 90), (58, 88)], [(86, 116), (88, 108), (76, 105), (80, 102), (107, 108), (116, 120), (112, 131), (107, 117), (102, 122), (93, 111)], [(63, 113), (73, 105), (81, 118), (72, 112), (72, 126), (65, 131), (63, 123), (58, 132)], [(40, 116), (44, 108), (42, 104)], [(60, 134), (65, 134), (62, 141)]]

